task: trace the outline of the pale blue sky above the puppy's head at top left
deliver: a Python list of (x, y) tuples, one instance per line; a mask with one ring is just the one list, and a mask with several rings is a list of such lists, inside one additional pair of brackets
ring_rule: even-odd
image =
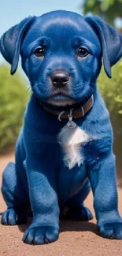
[[(1, 0), (0, 36), (14, 24), (29, 15), (40, 16), (54, 9), (72, 10), (81, 13), (81, 0)], [(0, 63), (3, 58), (0, 56)]]

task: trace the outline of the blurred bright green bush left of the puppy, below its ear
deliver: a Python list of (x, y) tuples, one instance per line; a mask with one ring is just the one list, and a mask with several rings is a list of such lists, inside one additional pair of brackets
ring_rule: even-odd
[(6, 152), (17, 140), (28, 92), (18, 72), (10, 76), (9, 67), (0, 66), (0, 153)]

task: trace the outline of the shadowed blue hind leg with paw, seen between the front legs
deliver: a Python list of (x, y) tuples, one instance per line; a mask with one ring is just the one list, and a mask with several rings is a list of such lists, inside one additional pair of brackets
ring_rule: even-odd
[(70, 221), (90, 221), (93, 218), (91, 210), (85, 207), (83, 203), (90, 191), (91, 186), (87, 180), (87, 182), (83, 184), (79, 193), (68, 201), (68, 211), (63, 216), (64, 219)]

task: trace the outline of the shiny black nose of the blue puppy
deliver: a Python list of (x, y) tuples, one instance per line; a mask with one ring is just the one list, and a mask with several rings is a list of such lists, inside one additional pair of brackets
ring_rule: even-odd
[(55, 87), (64, 87), (68, 83), (69, 75), (64, 69), (56, 69), (50, 78)]

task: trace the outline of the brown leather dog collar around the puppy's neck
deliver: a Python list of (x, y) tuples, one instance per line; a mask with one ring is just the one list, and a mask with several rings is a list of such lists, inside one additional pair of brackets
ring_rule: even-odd
[(38, 98), (36, 99), (37, 99), (37, 102), (39, 102), (39, 104), (43, 106), (43, 109), (45, 109), (46, 112), (52, 113), (55, 116), (57, 116), (59, 121), (61, 121), (62, 119), (69, 119), (70, 116), (72, 116), (72, 118), (84, 117), (84, 115), (91, 109), (91, 107), (94, 104), (94, 95), (91, 95), (91, 98), (89, 98), (83, 106), (80, 106), (79, 109), (71, 108), (68, 111), (57, 111), (57, 110), (48, 108), (47, 106), (43, 105)]

